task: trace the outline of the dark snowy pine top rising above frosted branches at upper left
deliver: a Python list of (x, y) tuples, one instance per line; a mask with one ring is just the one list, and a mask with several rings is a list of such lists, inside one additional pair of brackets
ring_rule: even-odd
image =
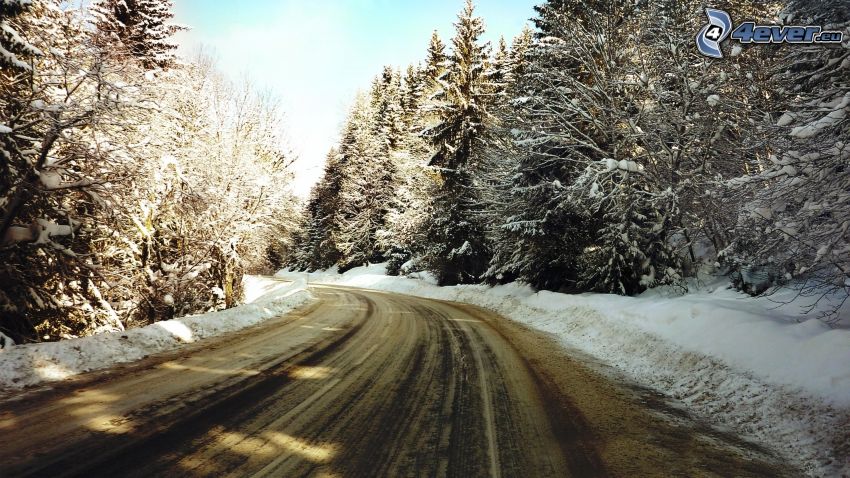
[(100, 42), (123, 45), (146, 69), (166, 68), (177, 45), (171, 37), (185, 29), (172, 24), (171, 0), (98, 0), (91, 7)]

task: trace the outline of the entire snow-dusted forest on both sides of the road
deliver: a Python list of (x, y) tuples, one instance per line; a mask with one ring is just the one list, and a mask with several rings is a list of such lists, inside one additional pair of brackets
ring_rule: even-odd
[[(706, 58), (706, 6), (541, 0), (491, 45), (467, 0), (453, 38), (353, 99), (302, 202), (277, 102), (177, 58), (170, 1), (0, 0), (0, 332), (123, 330), (232, 307), (246, 273), (385, 261), (441, 285), (635, 295), (710, 270), (846, 297), (847, 43)], [(846, 0), (711, 6), (850, 25)]]

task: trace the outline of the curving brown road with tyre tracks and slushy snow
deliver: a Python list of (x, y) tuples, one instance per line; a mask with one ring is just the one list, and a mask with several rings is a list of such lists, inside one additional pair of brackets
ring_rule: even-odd
[(489, 312), (313, 291), (261, 326), (0, 403), (0, 476), (795, 474)]

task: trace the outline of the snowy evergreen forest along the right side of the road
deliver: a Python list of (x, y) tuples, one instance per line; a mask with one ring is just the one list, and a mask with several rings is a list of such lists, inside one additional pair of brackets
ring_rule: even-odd
[(845, 42), (715, 60), (702, 1), (548, 0), (493, 51), (468, 0), (450, 47), (435, 33), (357, 98), (288, 265), (624, 295), (709, 266), (754, 294), (846, 295), (850, 9), (711, 6)]

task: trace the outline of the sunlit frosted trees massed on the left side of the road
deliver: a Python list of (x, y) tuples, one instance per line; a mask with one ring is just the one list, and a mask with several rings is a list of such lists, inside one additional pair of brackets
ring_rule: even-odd
[(0, 332), (56, 340), (237, 303), (294, 227), (280, 113), (179, 62), (170, 1), (0, 2)]

